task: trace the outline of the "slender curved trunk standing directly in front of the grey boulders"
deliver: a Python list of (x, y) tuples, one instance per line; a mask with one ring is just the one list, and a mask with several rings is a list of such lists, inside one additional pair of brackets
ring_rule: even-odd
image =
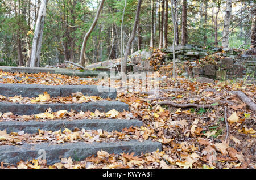
[(135, 33), (136, 33), (136, 29), (137, 29), (137, 24), (139, 22), (139, 13), (141, 12), (141, 2), (142, 2), (142, 0), (138, 0), (133, 31), (131, 32), (131, 36), (130, 36), (128, 42), (127, 42), (126, 49), (125, 49), (125, 56), (122, 59), (123, 61), (121, 62), (122, 63), (122, 65), (121, 65), (121, 73), (122, 74), (126, 73), (127, 59), (128, 59), (128, 54), (129, 54), (130, 48), (131, 48), (131, 42), (133, 42), (133, 39), (134, 39), (134, 36), (135, 36)]

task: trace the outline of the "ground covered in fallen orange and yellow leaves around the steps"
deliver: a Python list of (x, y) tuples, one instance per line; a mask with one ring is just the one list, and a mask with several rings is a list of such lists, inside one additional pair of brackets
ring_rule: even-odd
[[(166, 67), (168, 68), (168, 67)], [(5, 78), (2, 78), (5, 76)], [(99, 85), (100, 80), (57, 74), (22, 74), (0, 72), (0, 83), (23, 83), (45, 85)], [(115, 83), (120, 83), (115, 80)], [(131, 82), (133, 83), (133, 82)], [(84, 161), (63, 158), (61, 162), (46, 165), (44, 160), (20, 161), (16, 165), (1, 163), (1, 168), (256, 168), (256, 114), (231, 91), (241, 91), (255, 102), (255, 84), (234, 80), (216, 81), (216, 84), (199, 83), (187, 78), (173, 79), (167, 75), (159, 83), (159, 93), (117, 91), (117, 100), (129, 104), (129, 112), (59, 112), (48, 111), (36, 115), (15, 115), (0, 113), (1, 121), (29, 121), (30, 119), (83, 119), (83, 118), (126, 118), (139, 119), (142, 127), (130, 127), (122, 132), (101, 132), (101, 141), (154, 140), (163, 144), (163, 151), (133, 156), (114, 155), (105, 151), (97, 152)], [(131, 84), (127, 84), (131, 85)], [(47, 93), (38, 98), (5, 97), (0, 101), (16, 103), (44, 102), (88, 102), (100, 97), (81, 99), (81, 95), (51, 98)], [(164, 104), (163, 101), (171, 101)], [(159, 105), (162, 102), (163, 105)], [(176, 104), (196, 104), (200, 108), (180, 107)], [(204, 108), (204, 105), (211, 105)], [(226, 108), (225, 108), (226, 107)], [(18, 144), (20, 141), (63, 143), (79, 140), (79, 129), (58, 132), (44, 132), (20, 135), (0, 131), (0, 145)], [(88, 131), (92, 139), (97, 131)], [(51, 136), (46, 138), (45, 136)], [(1, 139), (2, 136), (8, 137)], [(60, 138), (62, 138), (60, 142)], [(81, 140), (81, 139), (80, 139)], [(87, 141), (86, 139), (82, 139)]]

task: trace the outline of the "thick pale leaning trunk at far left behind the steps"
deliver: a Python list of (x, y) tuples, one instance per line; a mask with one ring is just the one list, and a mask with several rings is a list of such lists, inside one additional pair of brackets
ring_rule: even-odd
[(48, 3), (48, 0), (42, 0), (39, 8), (39, 12), (38, 12), (38, 18), (36, 19), (35, 32), (34, 32), (31, 56), (30, 56), (30, 67), (38, 66), (40, 62), (40, 52), (42, 47), (43, 28), (44, 28), (43, 25), (44, 25), (44, 18), (46, 16), (47, 3)]

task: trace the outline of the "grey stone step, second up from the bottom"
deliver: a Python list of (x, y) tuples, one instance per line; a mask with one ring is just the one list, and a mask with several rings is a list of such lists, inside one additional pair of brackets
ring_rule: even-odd
[(85, 130), (104, 131), (122, 131), (122, 128), (129, 128), (131, 126), (141, 127), (142, 121), (137, 119), (82, 119), (68, 121), (65, 119), (47, 120), (47, 121), (3, 121), (0, 122), (0, 130), (6, 130), (7, 133), (24, 131), (24, 133), (34, 134), (40, 130), (58, 131), (68, 128), (73, 131), (77, 128), (84, 128)]

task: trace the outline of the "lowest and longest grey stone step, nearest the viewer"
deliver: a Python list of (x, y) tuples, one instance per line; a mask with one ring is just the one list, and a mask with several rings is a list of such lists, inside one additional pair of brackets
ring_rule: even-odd
[(119, 154), (122, 152), (136, 155), (156, 151), (162, 151), (162, 144), (145, 140), (118, 141), (118, 142), (76, 142), (64, 144), (23, 144), (23, 145), (0, 145), (0, 162), (16, 164), (20, 160), (27, 161), (46, 157), (47, 164), (60, 162), (61, 158), (71, 157), (72, 160), (81, 161), (86, 157), (96, 155), (97, 151)]

